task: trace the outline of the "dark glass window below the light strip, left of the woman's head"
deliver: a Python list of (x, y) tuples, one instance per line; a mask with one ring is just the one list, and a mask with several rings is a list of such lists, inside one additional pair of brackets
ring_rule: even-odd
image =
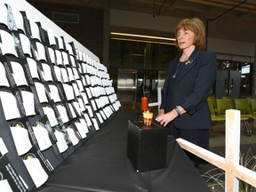
[(177, 55), (173, 44), (110, 39), (109, 46), (110, 68), (167, 70), (170, 61)]

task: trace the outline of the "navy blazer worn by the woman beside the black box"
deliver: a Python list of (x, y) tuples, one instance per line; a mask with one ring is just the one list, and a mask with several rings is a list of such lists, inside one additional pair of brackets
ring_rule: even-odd
[(166, 98), (168, 78), (171, 78), (172, 81), (173, 71), (175, 71), (173, 66), (176, 66), (174, 64), (175, 62), (178, 63), (179, 60), (180, 56), (172, 60), (169, 65), (160, 108), (164, 108), (164, 113), (167, 113), (169, 112), (166, 111), (167, 105), (168, 108), (170, 106), (175, 108), (175, 106), (180, 105), (187, 111), (187, 113), (178, 116), (170, 123), (179, 129), (209, 129), (212, 121), (207, 98), (212, 91), (217, 73), (215, 53), (196, 48), (190, 55), (186, 68), (180, 70), (179, 76), (176, 76), (176, 83), (172, 86), (172, 97)]

